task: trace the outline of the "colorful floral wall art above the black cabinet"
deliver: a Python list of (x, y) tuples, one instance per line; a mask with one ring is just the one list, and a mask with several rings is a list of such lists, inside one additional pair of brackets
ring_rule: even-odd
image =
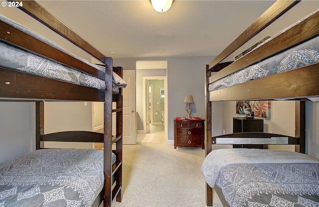
[(271, 117), (270, 101), (236, 101), (236, 114), (245, 114), (245, 109), (254, 112), (255, 117)]

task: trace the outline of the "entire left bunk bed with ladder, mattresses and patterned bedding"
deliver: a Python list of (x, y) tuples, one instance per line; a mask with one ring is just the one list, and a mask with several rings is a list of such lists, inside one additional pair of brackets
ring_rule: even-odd
[[(0, 164), (0, 206), (99, 207), (103, 202), (104, 207), (111, 207), (112, 201), (122, 200), (123, 68), (114, 67), (111, 57), (96, 50), (37, 2), (21, 4), (21, 10), (103, 66), (79, 58), (0, 16), (0, 101), (32, 101), (36, 108), (36, 151)], [(104, 102), (104, 133), (44, 134), (44, 101)], [(112, 109), (113, 102), (116, 109)], [(46, 141), (104, 143), (104, 150), (44, 149)]]

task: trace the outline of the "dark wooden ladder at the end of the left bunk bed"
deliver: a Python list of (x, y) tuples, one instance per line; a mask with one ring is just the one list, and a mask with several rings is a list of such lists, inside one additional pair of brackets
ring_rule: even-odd
[[(104, 207), (111, 207), (116, 197), (117, 202), (122, 201), (122, 133), (123, 133), (123, 95), (112, 92), (112, 71), (123, 77), (122, 67), (113, 67), (111, 57), (105, 58), (106, 63), (106, 93), (104, 102)], [(116, 102), (116, 109), (112, 109), (112, 103)], [(116, 112), (116, 135), (112, 136), (112, 113)], [(113, 151), (113, 144), (116, 149)], [(111, 153), (116, 155), (116, 163), (112, 166)], [(113, 181), (116, 178), (115, 186)]]

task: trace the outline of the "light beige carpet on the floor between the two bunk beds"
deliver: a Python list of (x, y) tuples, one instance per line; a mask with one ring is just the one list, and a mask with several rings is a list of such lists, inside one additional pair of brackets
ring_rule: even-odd
[[(204, 157), (202, 149), (174, 150), (167, 139), (124, 145), (123, 200), (112, 207), (206, 207)], [(222, 207), (216, 198), (214, 207)]]

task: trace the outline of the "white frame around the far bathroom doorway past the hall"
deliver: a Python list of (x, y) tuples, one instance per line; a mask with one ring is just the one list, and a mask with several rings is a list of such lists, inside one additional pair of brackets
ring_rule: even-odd
[[(146, 104), (146, 80), (158, 80), (158, 79), (163, 79), (164, 80), (164, 93), (165, 93), (165, 101), (164, 101), (164, 133), (167, 134), (167, 76), (143, 76), (143, 120), (147, 120), (147, 104)], [(147, 121), (143, 121), (143, 131), (144, 134), (147, 133)]]

